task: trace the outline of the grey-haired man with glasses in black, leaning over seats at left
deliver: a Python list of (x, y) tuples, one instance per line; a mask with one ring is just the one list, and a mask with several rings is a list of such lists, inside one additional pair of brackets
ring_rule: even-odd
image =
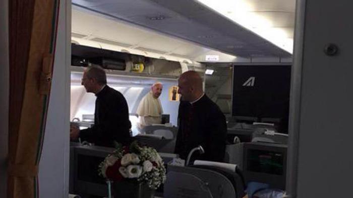
[(88, 67), (81, 84), (88, 93), (94, 93), (97, 97), (94, 125), (82, 130), (72, 129), (70, 138), (81, 138), (81, 141), (105, 147), (113, 147), (114, 141), (129, 144), (131, 122), (128, 103), (122, 93), (106, 85), (105, 71), (97, 66)]

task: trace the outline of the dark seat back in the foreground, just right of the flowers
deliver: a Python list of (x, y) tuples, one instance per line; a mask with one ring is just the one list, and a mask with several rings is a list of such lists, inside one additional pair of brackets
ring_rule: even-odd
[(201, 162), (203, 163), (199, 164), (195, 161), (194, 165), (186, 167), (169, 165), (164, 197), (241, 198), (245, 195), (244, 178), (236, 171), (236, 165)]

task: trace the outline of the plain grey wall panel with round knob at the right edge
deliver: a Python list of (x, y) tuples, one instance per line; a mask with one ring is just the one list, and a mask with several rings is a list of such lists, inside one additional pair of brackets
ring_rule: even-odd
[[(298, 148), (290, 176), (291, 194), (349, 197), (353, 178), (353, 13), (350, 1), (299, 1), (289, 135)], [(339, 52), (324, 53), (334, 43)], [(299, 48), (301, 47), (301, 48)], [(299, 96), (299, 97), (298, 97)], [(296, 142), (297, 141), (297, 142)], [(294, 174), (294, 175), (293, 175)]]

